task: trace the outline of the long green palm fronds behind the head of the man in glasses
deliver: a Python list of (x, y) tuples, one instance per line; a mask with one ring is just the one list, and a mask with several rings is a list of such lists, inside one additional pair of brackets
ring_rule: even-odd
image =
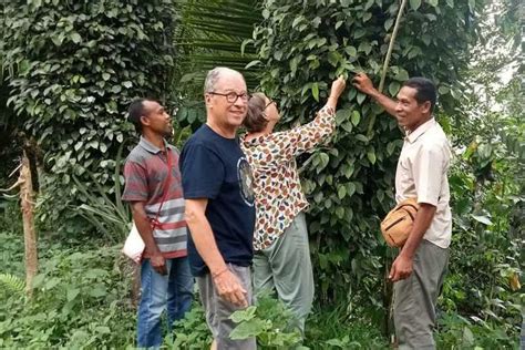
[(184, 99), (177, 120), (193, 130), (206, 120), (203, 86), (208, 70), (222, 65), (238, 70), (248, 89), (259, 84), (256, 68), (247, 64), (255, 59), (255, 48), (243, 44), (251, 38), (254, 25), (262, 19), (260, 0), (177, 0), (182, 23), (177, 27), (176, 90)]

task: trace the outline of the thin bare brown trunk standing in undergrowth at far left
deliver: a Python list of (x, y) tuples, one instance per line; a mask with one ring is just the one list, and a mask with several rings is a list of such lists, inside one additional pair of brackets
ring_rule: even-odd
[(32, 282), (39, 269), (37, 233), (34, 229), (34, 202), (31, 165), (28, 152), (23, 151), (22, 167), (20, 169), (20, 199), (23, 220), (23, 241), (25, 247), (25, 291), (31, 297)]

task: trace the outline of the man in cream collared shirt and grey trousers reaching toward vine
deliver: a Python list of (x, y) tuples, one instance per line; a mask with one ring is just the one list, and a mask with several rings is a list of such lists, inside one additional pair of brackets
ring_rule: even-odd
[(354, 76), (353, 85), (382, 105), (406, 133), (395, 172), (395, 200), (416, 197), (420, 209), (389, 275), (394, 282), (395, 334), (399, 349), (435, 349), (435, 303), (452, 235), (446, 176), (451, 152), (432, 116), (435, 86), (424, 78), (409, 79), (393, 101), (375, 90), (363, 73)]

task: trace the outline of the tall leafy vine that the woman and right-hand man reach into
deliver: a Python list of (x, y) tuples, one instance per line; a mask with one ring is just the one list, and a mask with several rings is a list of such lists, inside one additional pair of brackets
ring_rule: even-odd
[[(264, 66), (262, 89), (280, 101), (285, 127), (308, 121), (339, 74), (366, 71), (377, 82), (398, 10), (399, 1), (265, 2), (254, 64)], [(409, 75), (424, 75), (437, 84), (442, 111), (452, 111), (482, 10), (482, 1), (410, 1), (387, 93), (395, 95)], [(392, 253), (380, 239), (379, 217), (393, 203), (402, 138), (395, 121), (356, 89), (340, 107), (332, 143), (302, 159), (319, 292), (325, 300), (348, 297), (349, 310), (373, 305), (381, 315), (389, 308), (383, 272)]]

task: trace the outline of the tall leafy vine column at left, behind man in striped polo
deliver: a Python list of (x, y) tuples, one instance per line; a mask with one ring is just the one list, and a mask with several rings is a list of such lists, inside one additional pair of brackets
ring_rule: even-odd
[(43, 151), (41, 218), (63, 223), (71, 216), (64, 209), (78, 203), (73, 176), (89, 184), (91, 171), (112, 192), (119, 145), (134, 134), (124, 119), (131, 100), (169, 95), (174, 7), (169, 0), (3, 7), (8, 104)]

